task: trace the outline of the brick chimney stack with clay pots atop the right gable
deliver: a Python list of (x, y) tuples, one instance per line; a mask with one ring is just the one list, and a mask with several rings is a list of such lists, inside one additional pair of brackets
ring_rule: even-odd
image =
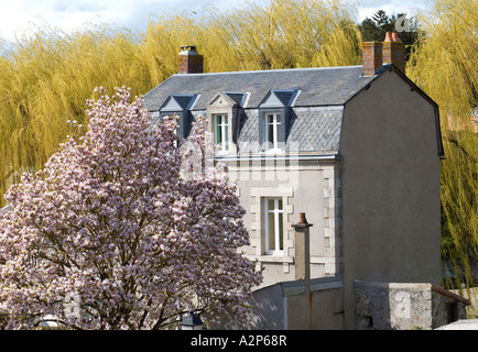
[(399, 33), (387, 32), (383, 43), (363, 42), (363, 76), (373, 76), (382, 65), (394, 64), (402, 73), (405, 72), (405, 44), (399, 38)]

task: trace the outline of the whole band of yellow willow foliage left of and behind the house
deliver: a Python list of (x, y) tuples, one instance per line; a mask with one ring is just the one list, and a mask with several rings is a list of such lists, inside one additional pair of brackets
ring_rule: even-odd
[[(145, 33), (90, 25), (41, 28), (10, 51), (0, 42), (0, 194), (43, 166), (68, 133), (86, 125), (95, 87), (144, 95), (177, 73), (180, 45), (195, 44), (205, 72), (360, 64), (355, 7), (337, 0), (271, 0), (202, 18), (152, 19)], [(0, 206), (4, 206), (0, 197)]]

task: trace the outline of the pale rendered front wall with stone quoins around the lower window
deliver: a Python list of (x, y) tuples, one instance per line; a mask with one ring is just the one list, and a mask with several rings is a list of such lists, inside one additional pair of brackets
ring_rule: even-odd
[[(335, 276), (340, 274), (341, 231), (336, 228), (339, 219), (339, 198), (335, 170), (335, 161), (300, 162), (293, 166), (291, 178), (286, 182), (276, 179), (282, 166), (231, 165), (229, 172), (239, 178), (239, 197), (246, 210), (243, 217), (248, 227), (251, 245), (245, 248), (246, 255), (257, 261), (263, 270), (264, 280), (260, 287), (295, 279), (295, 239), (292, 224), (300, 212), (305, 212), (311, 228), (312, 277)], [(271, 170), (275, 170), (274, 174)], [(286, 173), (289, 168), (285, 167)], [(284, 253), (268, 255), (264, 253), (264, 197), (281, 197), (284, 211)]]

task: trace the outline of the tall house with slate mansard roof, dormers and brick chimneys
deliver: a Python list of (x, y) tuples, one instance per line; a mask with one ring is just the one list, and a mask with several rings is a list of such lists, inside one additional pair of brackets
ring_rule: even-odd
[(439, 285), (438, 107), (404, 74), (396, 36), (363, 43), (363, 64), (348, 67), (205, 74), (196, 47), (181, 50), (145, 107), (177, 114), (182, 138), (207, 117), (215, 160), (238, 179), (258, 289), (303, 277), (300, 212), (313, 224), (311, 278), (341, 283), (344, 328), (355, 280)]

